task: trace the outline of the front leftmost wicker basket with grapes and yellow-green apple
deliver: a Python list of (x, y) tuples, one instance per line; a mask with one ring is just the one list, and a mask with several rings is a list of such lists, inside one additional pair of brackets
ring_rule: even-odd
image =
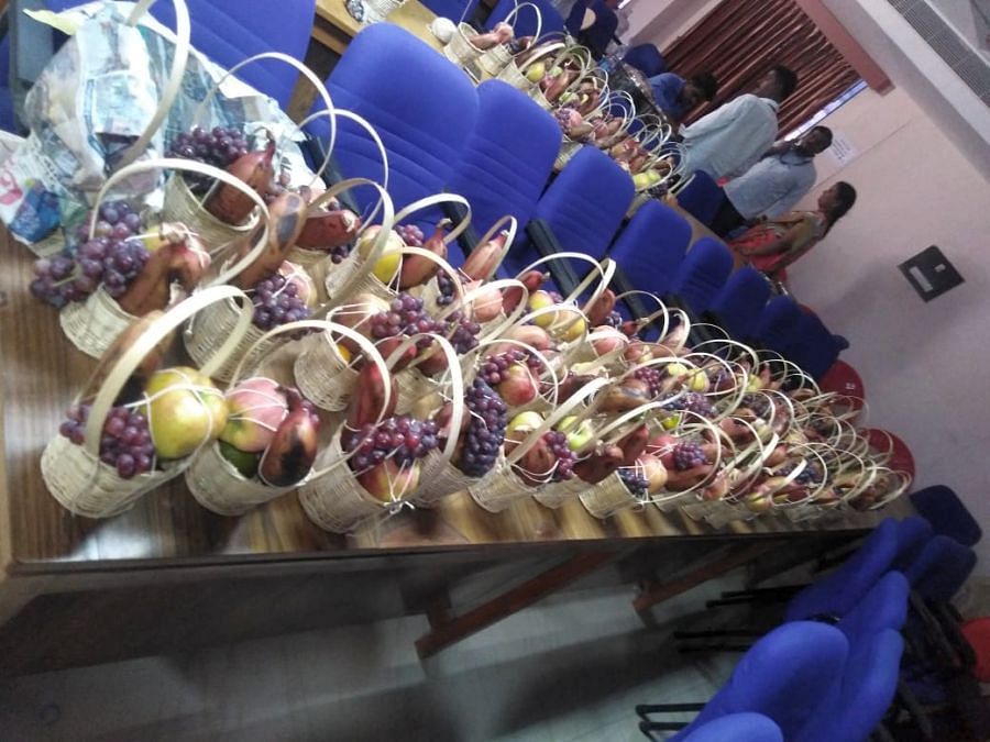
[[(241, 302), (240, 322), (201, 374), (157, 370), (164, 345), (183, 322), (211, 303), (230, 300)], [(215, 407), (223, 405), (222, 395), (207, 376), (234, 352), (238, 333), (251, 321), (250, 306), (233, 287), (205, 289), (167, 312), (136, 320), (117, 337), (42, 454), (42, 476), (59, 505), (87, 518), (119, 514), (182, 474), (193, 455), (209, 445), (226, 409)], [(141, 395), (120, 403), (134, 375), (145, 381)]]

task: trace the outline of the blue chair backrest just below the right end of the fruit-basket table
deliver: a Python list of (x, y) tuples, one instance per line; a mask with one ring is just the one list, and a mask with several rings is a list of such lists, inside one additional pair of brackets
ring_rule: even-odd
[(898, 522), (893, 518), (884, 518), (855, 554), (791, 598), (784, 620), (846, 616), (890, 571), (897, 557)]

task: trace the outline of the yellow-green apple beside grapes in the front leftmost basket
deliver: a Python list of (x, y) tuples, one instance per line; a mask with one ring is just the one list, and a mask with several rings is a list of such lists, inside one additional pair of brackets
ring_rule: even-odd
[(227, 400), (209, 377), (176, 366), (156, 372), (144, 388), (152, 441), (161, 458), (182, 458), (216, 440), (227, 425)]

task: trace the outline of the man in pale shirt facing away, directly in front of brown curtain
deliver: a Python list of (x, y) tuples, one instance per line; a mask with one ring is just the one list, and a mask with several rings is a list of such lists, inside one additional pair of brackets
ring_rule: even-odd
[(688, 173), (716, 180), (745, 173), (777, 139), (777, 110), (798, 87), (798, 76), (778, 65), (752, 92), (721, 106), (682, 130)]

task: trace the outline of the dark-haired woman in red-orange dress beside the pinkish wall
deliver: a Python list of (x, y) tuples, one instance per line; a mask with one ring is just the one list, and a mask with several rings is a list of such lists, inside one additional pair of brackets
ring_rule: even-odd
[(814, 247), (832, 225), (846, 215), (856, 203), (856, 189), (844, 180), (818, 196), (816, 211), (791, 211), (747, 230), (728, 243), (736, 258), (736, 267), (749, 264), (760, 273), (776, 278)]

